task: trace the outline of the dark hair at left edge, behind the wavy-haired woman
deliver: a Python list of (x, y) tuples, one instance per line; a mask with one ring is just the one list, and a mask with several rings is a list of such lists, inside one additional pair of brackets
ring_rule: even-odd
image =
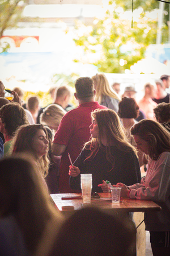
[(19, 126), (29, 124), (25, 110), (18, 103), (3, 105), (0, 109), (0, 116), (7, 135), (11, 138), (14, 137), (14, 133)]

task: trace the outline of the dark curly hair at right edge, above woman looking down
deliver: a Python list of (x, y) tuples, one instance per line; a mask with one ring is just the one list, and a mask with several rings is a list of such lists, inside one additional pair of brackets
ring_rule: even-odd
[(156, 120), (159, 123), (168, 122), (170, 120), (170, 103), (162, 102), (154, 109)]

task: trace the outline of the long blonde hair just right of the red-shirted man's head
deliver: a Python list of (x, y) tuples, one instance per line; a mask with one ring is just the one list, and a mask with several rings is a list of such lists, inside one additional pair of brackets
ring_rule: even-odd
[(94, 80), (95, 83), (96, 101), (98, 101), (99, 104), (101, 103), (102, 96), (109, 96), (120, 100), (111, 86), (109, 86), (109, 82), (104, 74), (96, 74), (92, 77), (92, 80)]

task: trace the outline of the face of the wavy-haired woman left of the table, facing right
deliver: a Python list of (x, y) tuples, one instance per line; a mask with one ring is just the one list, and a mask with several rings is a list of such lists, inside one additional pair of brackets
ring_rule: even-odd
[(37, 130), (35, 137), (33, 138), (32, 147), (35, 150), (38, 158), (41, 158), (48, 152), (48, 139), (44, 130)]

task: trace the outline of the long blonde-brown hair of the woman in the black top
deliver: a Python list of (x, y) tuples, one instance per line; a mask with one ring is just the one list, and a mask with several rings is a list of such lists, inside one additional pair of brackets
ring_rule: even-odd
[[(95, 157), (99, 148), (103, 148), (101, 143), (103, 134), (107, 139), (106, 156), (108, 162), (112, 163), (114, 167), (114, 155), (112, 155), (111, 146), (114, 144), (121, 151), (132, 152), (134, 151), (137, 155), (137, 150), (131, 146), (124, 133), (124, 128), (121, 125), (120, 119), (116, 112), (112, 109), (96, 109), (91, 113), (91, 117), (95, 119), (98, 128), (99, 136), (92, 138), (91, 141), (84, 144), (85, 149), (90, 149), (91, 153), (86, 160), (91, 160)], [(112, 143), (110, 143), (112, 142)], [(112, 168), (113, 168), (112, 167)]]

